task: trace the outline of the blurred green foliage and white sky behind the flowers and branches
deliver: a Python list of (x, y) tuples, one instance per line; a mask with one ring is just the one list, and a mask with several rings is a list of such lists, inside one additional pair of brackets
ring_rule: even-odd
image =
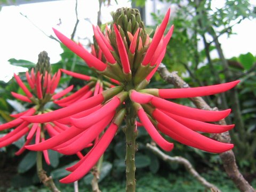
[[(219, 84), (240, 79), (241, 83), (227, 93), (205, 97), (211, 107), (231, 108), (226, 119), (236, 124), (230, 131), (231, 142), (239, 169), (256, 186), (256, 1), (245, 0), (134, 0), (134, 1), (0, 1), (0, 121), (10, 121), (9, 114), (20, 112), (27, 106), (14, 100), (11, 91), (21, 92), (12, 79), (13, 73), (35, 66), (38, 54), (47, 51), (53, 71), (65, 68), (91, 74), (84, 61), (56, 39), (52, 27), (90, 50), (93, 25), (103, 26), (112, 20), (110, 12), (118, 7), (140, 10), (147, 27), (155, 29), (171, 7), (169, 26), (174, 24), (163, 63), (192, 87)], [(60, 89), (83, 82), (66, 76)], [(150, 87), (172, 87), (156, 74)], [(193, 106), (188, 99), (177, 102)], [(57, 106), (53, 106), (57, 107)], [(4, 134), (4, 133), (3, 133)], [(169, 138), (168, 138), (169, 139)], [(169, 139), (170, 140), (170, 139)], [(23, 145), (0, 148), (0, 191), (47, 191), (35, 175), (34, 152), (16, 157), (15, 151)], [(169, 164), (148, 151), (145, 144), (150, 138), (145, 130), (138, 135), (139, 151), (136, 156), (138, 191), (205, 191), (179, 164)], [(196, 170), (222, 191), (238, 191), (223, 170), (218, 154), (209, 154), (174, 142), (171, 156), (186, 157)], [(100, 177), (102, 191), (121, 191), (125, 182), (124, 135), (118, 134), (104, 157)], [(52, 165), (45, 166), (54, 179), (62, 178), (63, 169), (77, 161), (76, 156), (62, 156), (52, 151)], [(91, 191), (92, 174), (79, 181), (81, 191)], [(149, 182), (150, 181), (150, 182)], [(58, 183), (60, 185), (60, 183)], [(15, 190), (14, 190), (14, 188)], [(24, 188), (25, 187), (25, 188)], [(72, 185), (60, 185), (63, 191), (73, 191)], [(172, 189), (172, 190), (170, 190)], [(192, 189), (192, 190), (191, 190)]]

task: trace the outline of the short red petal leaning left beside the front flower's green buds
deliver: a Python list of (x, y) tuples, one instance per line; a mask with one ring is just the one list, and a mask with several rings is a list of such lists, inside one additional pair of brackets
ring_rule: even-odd
[(105, 44), (105, 42), (102, 40), (102, 38), (100, 37), (99, 32), (97, 31), (97, 29), (92, 26), (93, 28), (93, 33), (94, 33), (94, 37), (100, 47), (100, 49), (102, 50), (102, 52), (104, 53), (104, 56), (106, 58), (106, 60), (112, 64), (114, 64), (116, 62), (115, 58), (113, 57), (113, 55), (111, 54), (111, 52), (109, 51), (107, 45)]

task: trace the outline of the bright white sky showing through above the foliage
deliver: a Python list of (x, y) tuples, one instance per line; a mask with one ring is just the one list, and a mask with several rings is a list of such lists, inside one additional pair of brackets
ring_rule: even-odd
[[(148, 2), (150, 3), (151, 1)], [(219, 7), (221, 2), (223, 1), (213, 0), (214, 6), (216, 7)], [(256, 0), (250, 2), (256, 4)], [(102, 23), (111, 21), (111, 11), (115, 11), (118, 7), (131, 6), (129, 1), (124, 0), (119, 0), (118, 5), (116, 5), (115, 1), (111, 1), (111, 3), (113, 5), (108, 7), (102, 6)], [(155, 10), (165, 10), (166, 5), (162, 6), (158, 3), (159, 2), (157, 2)], [(78, 39), (77, 37), (82, 39), (86, 37), (92, 38), (93, 30), (91, 23), (85, 20), (85, 18), (89, 18), (90, 21), (96, 25), (98, 9), (98, 1), (90, 1), (90, 3), (82, 0), (78, 1), (78, 19), (80, 22), (76, 31), (76, 41)], [(18, 73), (18, 71), (26, 70), (24, 68), (11, 66), (7, 61), (11, 58), (24, 59), (36, 63), (38, 54), (41, 51), (47, 51), (51, 58), (51, 63), (60, 60), (62, 50), (59, 43), (45, 36), (42, 31), (33, 26), (28, 19), (23, 17), (20, 13), (27, 15), (27, 17), (47, 35), (53, 36), (55, 35), (53, 34), (52, 27), (55, 27), (60, 30), (61, 33), (70, 37), (76, 22), (75, 1), (66, 0), (24, 4), (20, 6), (4, 6), (0, 12), (0, 80), (3, 81), (9, 81), (14, 72)], [(147, 14), (147, 20), (148, 17), (151, 16)], [(61, 25), (57, 26), (59, 19), (61, 19)], [(221, 36), (220, 42), (226, 58), (247, 52), (255, 54), (255, 29), (255, 20), (250, 21), (246, 19), (234, 27), (233, 31), (237, 33), (237, 35), (232, 35), (230, 38), (227, 38), (225, 35)]]

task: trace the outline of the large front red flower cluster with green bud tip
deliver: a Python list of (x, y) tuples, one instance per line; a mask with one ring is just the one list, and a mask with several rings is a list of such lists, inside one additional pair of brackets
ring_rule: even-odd
[[(229, 109), (207, 111), (182, 106), (166, 99), (217, 94), (231, 89), (238, 81), (189, 89), (145, 89), (161, 63), (172, 36), (173, 26), (164, 35), (169, 15), (170, 9), (150, 39), (138, 10), (118, 9), (113, 14), (114, 22), (110, 29), (106, 29), (105, 35), (99, 28), (93, 27), (95, 40), (101, 50), (98, 56), (93, 51), (90, 54), (54, 29), (60, 41), (84, 59), (91, 68), (119, 82), (119, 86), (71, 103), (65, 108), (38, 116), (22, 117), (25, 121), (34, 123), (61, 122), (64, 119), (71, 124), (67, 130), (48, 140), (26, 146), (30, 150), (56, 149), (61, 153), (74, 154), (105, 130), (89, 153), (77, 164), (67, 168), (71, 174), (61, 182), (74, 182), (91, 170), (108, 147), (123, 119), (126, 122), (126, 150), (131, 155), (126, 164), (134, 163), (137, 117), (150, 137), (166, 151), (173, 149), (173, 143), (166, 141), (159, 132), (185, 145), (212, 153), (222, 153), (233, 148), (232, 144), (212, 140), (197, 132), (220, 133), (232, 129), (234, 125), (206, 123), (225, 118), (230, 113)], [(69, 145), (63, 147), (63, 143)], [(135, 172), (135, 169), (132, 166), (127, 169), (131, 170), (126, 172), (126, 177), (132, 178), (128, 174)]]

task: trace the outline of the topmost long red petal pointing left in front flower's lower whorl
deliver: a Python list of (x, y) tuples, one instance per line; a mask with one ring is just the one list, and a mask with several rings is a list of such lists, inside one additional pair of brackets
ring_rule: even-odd
[(95, 107), (99, 105), (101, 102), (103, 102), (103, 100), (104, 100), (103, 95), (98, 94), (84, 101), (74, 103), (71, 106), (61, 108), (55, 111), (51, 111), (46, 114), (30, 116), (30, 117), (21, 117), (21, 118), (23, 118), (25, 121), (33, 122), (33, 123), (51, 122), (51, 121), (55, 121), (57, 119), (61, 119), (70, 115), (74, 115), (83, 110)]

